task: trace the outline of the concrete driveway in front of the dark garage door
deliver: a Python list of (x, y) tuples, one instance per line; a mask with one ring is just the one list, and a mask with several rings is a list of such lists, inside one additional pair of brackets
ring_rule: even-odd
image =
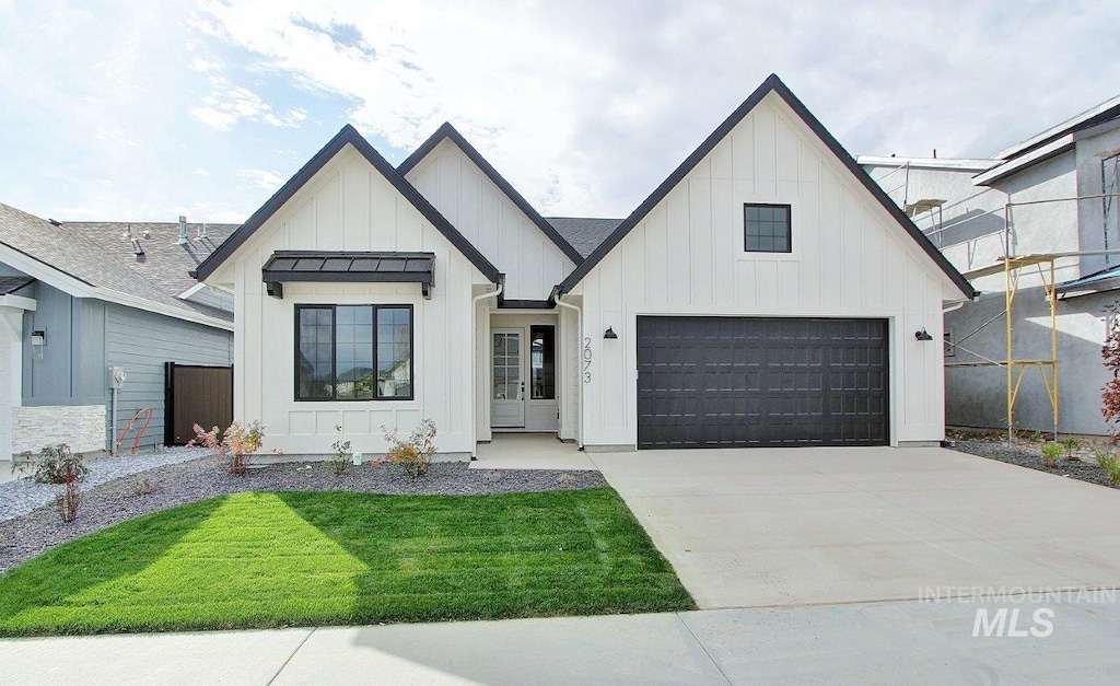
[(1120, 586), (1120, 491), (955, 451), (592, 460), (701, 609)]

